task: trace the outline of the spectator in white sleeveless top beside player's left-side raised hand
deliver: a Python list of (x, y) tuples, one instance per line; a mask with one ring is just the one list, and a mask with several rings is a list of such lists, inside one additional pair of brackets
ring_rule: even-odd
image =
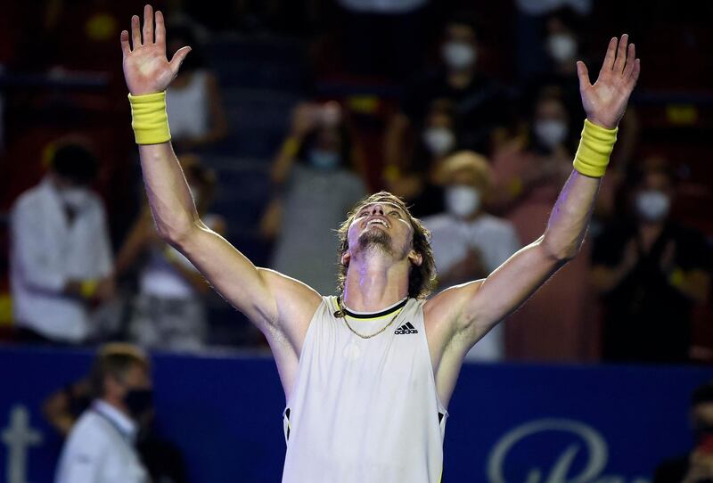
[(206, 66), (201, 45), (186, 26), (171, 26), (168, 51), (191, 46), (181, 70), (166, 91), (168, 119), (176, 152), (209, 147), (227, 135), (217, 78)]

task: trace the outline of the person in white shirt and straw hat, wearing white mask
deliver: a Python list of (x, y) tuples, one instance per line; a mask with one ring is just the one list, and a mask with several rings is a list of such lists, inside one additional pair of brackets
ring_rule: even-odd
[[(472, 151), (449, 157), (438, 177), (445, 184), (447, 211), (423, 218), (430, 229), (438, 285), (446, 288), (485, 278), (520, 250), (514, 226), (482, 209), (492, 185), (488, 160)], [(504, 358), (503, 325), (496, 325), (466, 355), (468, 360)]]

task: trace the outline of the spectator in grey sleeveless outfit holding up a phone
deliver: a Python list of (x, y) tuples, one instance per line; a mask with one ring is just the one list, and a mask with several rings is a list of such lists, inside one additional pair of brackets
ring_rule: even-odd
[(336, 102), (298, 106), (272, 168), (281, 195), (271, 202), (261, 225), (264, 236), (276, 238), (272, 267), (323, 294), (336, 288), (334, 266), (324, 263), (337, 249), (336, 236), (328, 233), (365, 195), (351, 139)]

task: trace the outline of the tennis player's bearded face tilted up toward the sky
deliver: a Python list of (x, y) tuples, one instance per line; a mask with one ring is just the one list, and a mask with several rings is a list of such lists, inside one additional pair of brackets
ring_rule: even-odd
[(372, 203), (357, 211), (349, 225), (348, 254), (381, 250), (401, 259), (411, 250), (413, 236), (414, 228), (403, 209), (386, 201)]

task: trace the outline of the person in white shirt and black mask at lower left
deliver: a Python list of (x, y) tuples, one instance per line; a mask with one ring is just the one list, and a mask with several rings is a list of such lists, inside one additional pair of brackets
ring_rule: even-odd
[(107, 344), (94, 361), (91, 384), (96, 398), (72, 427), (54, 482), (149, 483), (135, 449), (152, 409), (148, 356), (130, 344)]

